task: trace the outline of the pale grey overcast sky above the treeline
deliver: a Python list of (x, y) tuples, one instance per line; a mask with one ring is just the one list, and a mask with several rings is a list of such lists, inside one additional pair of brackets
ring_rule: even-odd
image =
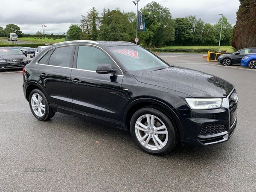
[[(79, 24), (81, 15), (87, 15), (91, 7), (102, 13), (104, 8), (136, 12), (133, 0), (1, 0), (0, 26), (13, 23), (25, 34), (42, 32), (46, 25), (47, 34), (63, 34), (70, 24)], [(72, 3), (71, 3), (72, 2)], [(139, 10), (151, 0), (140, 0)], [(233, 25), (236, 23), (236, 12), (239, 0), (157, 0), (162, 6), (170, 9), (173, 18), (195, 15), (205, 23), (214, 24), (224, 14)], [(146, 23), (145, 23), (146, 25)]]

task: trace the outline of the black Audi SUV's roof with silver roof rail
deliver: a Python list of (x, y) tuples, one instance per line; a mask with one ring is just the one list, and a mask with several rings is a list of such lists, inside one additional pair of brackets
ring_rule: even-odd
[(77, 41), (64, 41), (59, 42), (56, 44), (52, 44), (52, 46), (55, 45), (65, 45), (65, 44), (97, 44), (101, 45), (103, 47), (112, 47), (112, 46), (122, 46), (122, 45), (135, 45), (131, 42), (126, 41), (90, 41), (90, 40), (77, 40)]

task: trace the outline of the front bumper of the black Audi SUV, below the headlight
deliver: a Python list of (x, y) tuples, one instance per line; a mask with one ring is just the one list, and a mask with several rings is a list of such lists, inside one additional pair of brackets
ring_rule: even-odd
[[(230, 94), (231, 96), (231, 94)], [(238, 104), (230, 107), (230, 96), (219, 109), (178, 110), (182, 116), (182, 145), (207, 146), (227, 141), (236, 129)]]

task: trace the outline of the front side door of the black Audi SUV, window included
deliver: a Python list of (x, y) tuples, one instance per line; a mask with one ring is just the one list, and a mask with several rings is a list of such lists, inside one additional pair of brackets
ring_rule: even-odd
[[(100, 47), (79, 45), (75, 55), (70, 77), (75, 115), (120, 123), (121, 70)], [(110, 64), (116, 75), (96, 73), (99, 64)]]

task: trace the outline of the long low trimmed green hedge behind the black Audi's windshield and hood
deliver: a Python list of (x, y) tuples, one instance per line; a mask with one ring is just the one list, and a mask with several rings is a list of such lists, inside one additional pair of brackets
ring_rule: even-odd
[(180, 49), (180, 48), (146, 48), (151, 52), (191, 52), (191, 53), (207, 53), (218, 52), (218, 49)]

